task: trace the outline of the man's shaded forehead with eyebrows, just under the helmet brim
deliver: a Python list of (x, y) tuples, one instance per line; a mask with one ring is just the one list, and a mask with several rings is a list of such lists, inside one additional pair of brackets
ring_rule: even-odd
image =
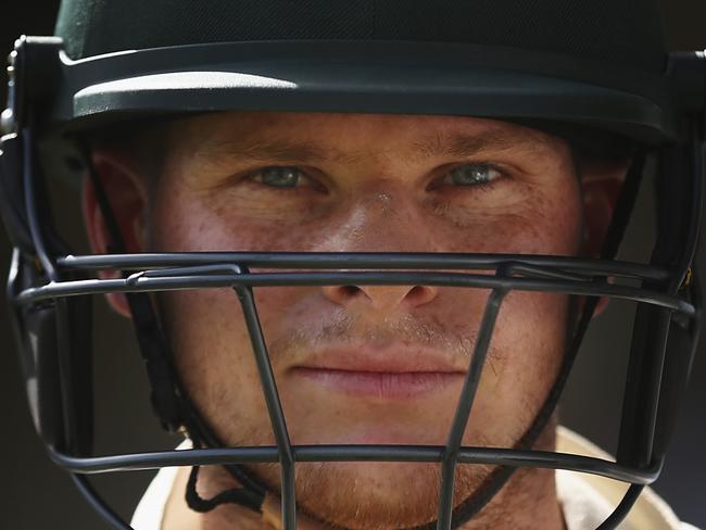
[(556, 137), (517, 124), (391, 114), (229, 112), (179, 119), (169, 143), (204, 157), (354, 161), (371, 153), (415, 159), (484, 152), (564, 152)]

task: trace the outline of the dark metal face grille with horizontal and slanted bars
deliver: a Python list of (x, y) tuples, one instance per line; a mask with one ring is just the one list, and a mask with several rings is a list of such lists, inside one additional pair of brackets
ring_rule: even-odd
[[(174, 253), (67, 256), (56, 262), (59, 270), (127, 270), (124, 279), (54, 281), (27, 289), (21, 304), (48, 299), (108, 292), (156, 292), (185, 289), (231, 288), (238, 295), (250, 333), (262, 389), (265, 395), (275, 446), (196, 449), (180, 452), (141, 453), (101, 457), (76, 457), (53, 451), (55, 462), (73, 474), (152, 469), (164, 466), (279, 463), (283, 528), (297, 527), (294, 466), (298, 462), (426, 462), (441, 465), (437, 528), (454, 528), (454, 472), (458, 464), (486, 464), (509, 469), (538, 467), (569, 469), (629, 482), (621, 506), (629, 509), (644, 484), (654, 481), (660, 462), (626, 466), (600, 458), (530, 447), (463, 446), (462, 436), (472, 409), (486, 364), (497, 314), (510, 291), (542, 291), (623, 299), (693, 316), (684, 300), (645, 288), (635, 280), (658, 283), (670, 277), (666, 268), (636, 263), (564, 256), (502, 254), (402, 254), (402, 253)], [(253, 273), (253, 268), (267, 269)], [(345, 269), (341, 272), (341, 269)], [(631, 285), (632, 283), (632, 285)], [(446, 286), (490, 290), (445, 445), (292, 445), (277, 384), (257, 316), (253, 288), (277, 286), (407, 285)], [(590, 304), (587, 304), (590, 305)], [(592, 313), (592, 310), (591, 310)], [(589, 315), (590, 318), (590, 315)], [(575, 355), (584, 329), (576, 330), (567, 357)], [(555, 403), (554, 403), (555, 404)], [(553, 405), (552, 405), (553, 408)], [(86, 488), (84, 479), (77, 479)], [(625, 514), (619, 506), (616, 522)], [(605, 528), (610, 528), (607, 522)], [(126, 527), (118, 527), (126, 528)]]

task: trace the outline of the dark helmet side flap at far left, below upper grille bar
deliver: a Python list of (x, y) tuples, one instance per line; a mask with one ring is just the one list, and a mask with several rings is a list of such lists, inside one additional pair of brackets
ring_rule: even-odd
[(93, 437), (92, 303), (89, 296), (34, 304), (17, 294), (36, 285), (36, 264), (14, 251), (9, 278), (11, 319), (35, 428), (49, 446), (90, 454)]

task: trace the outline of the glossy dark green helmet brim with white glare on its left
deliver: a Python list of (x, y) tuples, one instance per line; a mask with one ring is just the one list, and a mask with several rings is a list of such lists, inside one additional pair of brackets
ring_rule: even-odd
[(678, 137), (666, 77), (565, 55), (436, 42), (269, 41), (61, 56), (49, 114), (72, 129), (153, 115), (289, 111), (576, 124), (643, 143)]

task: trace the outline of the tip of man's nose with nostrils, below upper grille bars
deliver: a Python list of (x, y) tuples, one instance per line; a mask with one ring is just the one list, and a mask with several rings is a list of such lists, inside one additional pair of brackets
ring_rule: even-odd
[(326, 286), (323, 291), (335, 304), (381, 313), (411, 310), (437, 298), (437, 288), (430, 286)]

